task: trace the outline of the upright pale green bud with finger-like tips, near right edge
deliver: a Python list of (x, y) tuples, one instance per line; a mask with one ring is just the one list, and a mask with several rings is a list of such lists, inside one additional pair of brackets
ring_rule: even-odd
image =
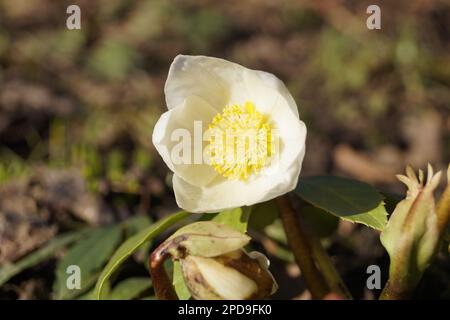
[[(407, 297), (415, 288), (433, 258), (439, 243), (440, 232), (434, 190), (441, 172), (433, 174), (428, 165), (427, 181), (419, 170), (417, 178), (413, 169), (406, 168), (406, 176), (397, 178), (408, 187), (404, 200), (399, 202), (385, 229), (381, 243), (390, 257), (388, 289), (382, 297)], [(389, 292), (396, 292), (390, 294)]]

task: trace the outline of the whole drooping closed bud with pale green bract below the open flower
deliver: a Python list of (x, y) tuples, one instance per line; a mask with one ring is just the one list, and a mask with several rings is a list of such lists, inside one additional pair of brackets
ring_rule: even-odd
[(174, 233), (157, 252), (179, 260), (187, 288), (197, 300), (263, 299), (276, 291), (268, 259), (247, 253), (245, 234), (202, 221)]

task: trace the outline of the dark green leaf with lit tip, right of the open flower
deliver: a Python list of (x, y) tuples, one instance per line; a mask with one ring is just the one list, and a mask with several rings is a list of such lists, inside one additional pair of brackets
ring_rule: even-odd
[(387, 212), (380, 193), (372, 186), (347, 178), (301, 178), (295, 193), (306, 202), (348, 221), (382, 230)]

